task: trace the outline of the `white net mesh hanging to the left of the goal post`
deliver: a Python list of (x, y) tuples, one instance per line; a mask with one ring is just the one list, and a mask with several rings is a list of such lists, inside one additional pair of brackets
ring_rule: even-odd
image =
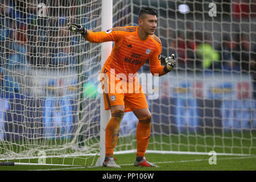
[(78, 155), (80, 134), (99, 135), (100, 46), (67, 23), (100, 30), (101, 1), (2, 1), (1, 15), (1, 158)]

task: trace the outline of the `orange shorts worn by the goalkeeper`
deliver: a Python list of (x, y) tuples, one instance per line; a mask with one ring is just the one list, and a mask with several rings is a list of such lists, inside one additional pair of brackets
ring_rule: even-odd
[(127, 82), (117, 77), (110, 78), (110, 73), (102, 69), (101, 86), (104, 95), (105, 110), (114, 105), (124, 105), (125, 112), (148, 108), (146, 96), (138, 78)]

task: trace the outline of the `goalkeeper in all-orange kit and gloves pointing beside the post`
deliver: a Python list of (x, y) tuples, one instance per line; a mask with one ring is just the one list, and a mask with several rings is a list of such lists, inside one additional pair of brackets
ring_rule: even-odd
[[(134, 166), (158, 167), (148, 162), (144, 156), (150, 138), (151, 113), (148, 110), (142, 86), (136, 77), (137, 71), (146, 60), (149, 60), (150, 71), (154, 76), (165, 75), (175, 67), (174, 54), (172, 54), (172, 57), (166, 58), (165, 66), (160, 63), (162, 44), (154, 34), (157, 26), (157, 16), (158, 14), (154, 9), (143, 7), (139, 13), (139, 26), (114, 27), (101, 32), (92, 32), (79, 24), (68, 23), (69, 30), (79, 32), (84, 39), (91, 43), (109, 41), (115, 43), (112, 53), (102, 68), (104, 77), (101, 77), (105, 109), (110, 109), (112, 113), (112, 117), (106, 126), (105, 167), (120, 167), (115, 163), (113, 152), (125, 111), (133, 111), (139, 119), (136, 131), (137, 157)], [(115, 76), (114, 79), (112, 79), (113, 76)], [(118, 87), (120, 82), (122, 82), (122, 88)], [(126, 86), (131, 84), (133, 89), (129, 88), (129, 92), (126, 92)]]

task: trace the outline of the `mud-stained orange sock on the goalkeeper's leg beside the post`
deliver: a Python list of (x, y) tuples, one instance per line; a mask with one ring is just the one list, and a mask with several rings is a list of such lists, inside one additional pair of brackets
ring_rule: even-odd
[(111, 113), (112, 117), (110, 118), (108, 125), (106, 126), (105, 133), (106, 157), (113, 157), (114, 147), (117, 145), (119, 127), (123, 119), (123, 114), (123, 110), (116, 110)]

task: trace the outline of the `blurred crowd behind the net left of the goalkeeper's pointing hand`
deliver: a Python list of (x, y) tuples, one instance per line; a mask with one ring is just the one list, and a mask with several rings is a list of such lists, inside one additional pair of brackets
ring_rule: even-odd
[(53, 1), (51, 8), (46, 10), (44, 3), (37, 5), (34, 0), (1, 0), (2, 66), (3, 62), (6, 63), (5, 68), (15, 69), (26, 64), (61, 67), (76, 63), (72, 53), (75, 52), (77, 38), (69, 37), (66, 26), (67, 13), (70, 15), (71, 11), (67, 8), (57, 10), (61, 5), (55, 6), (54, 2), (59, 1)]

